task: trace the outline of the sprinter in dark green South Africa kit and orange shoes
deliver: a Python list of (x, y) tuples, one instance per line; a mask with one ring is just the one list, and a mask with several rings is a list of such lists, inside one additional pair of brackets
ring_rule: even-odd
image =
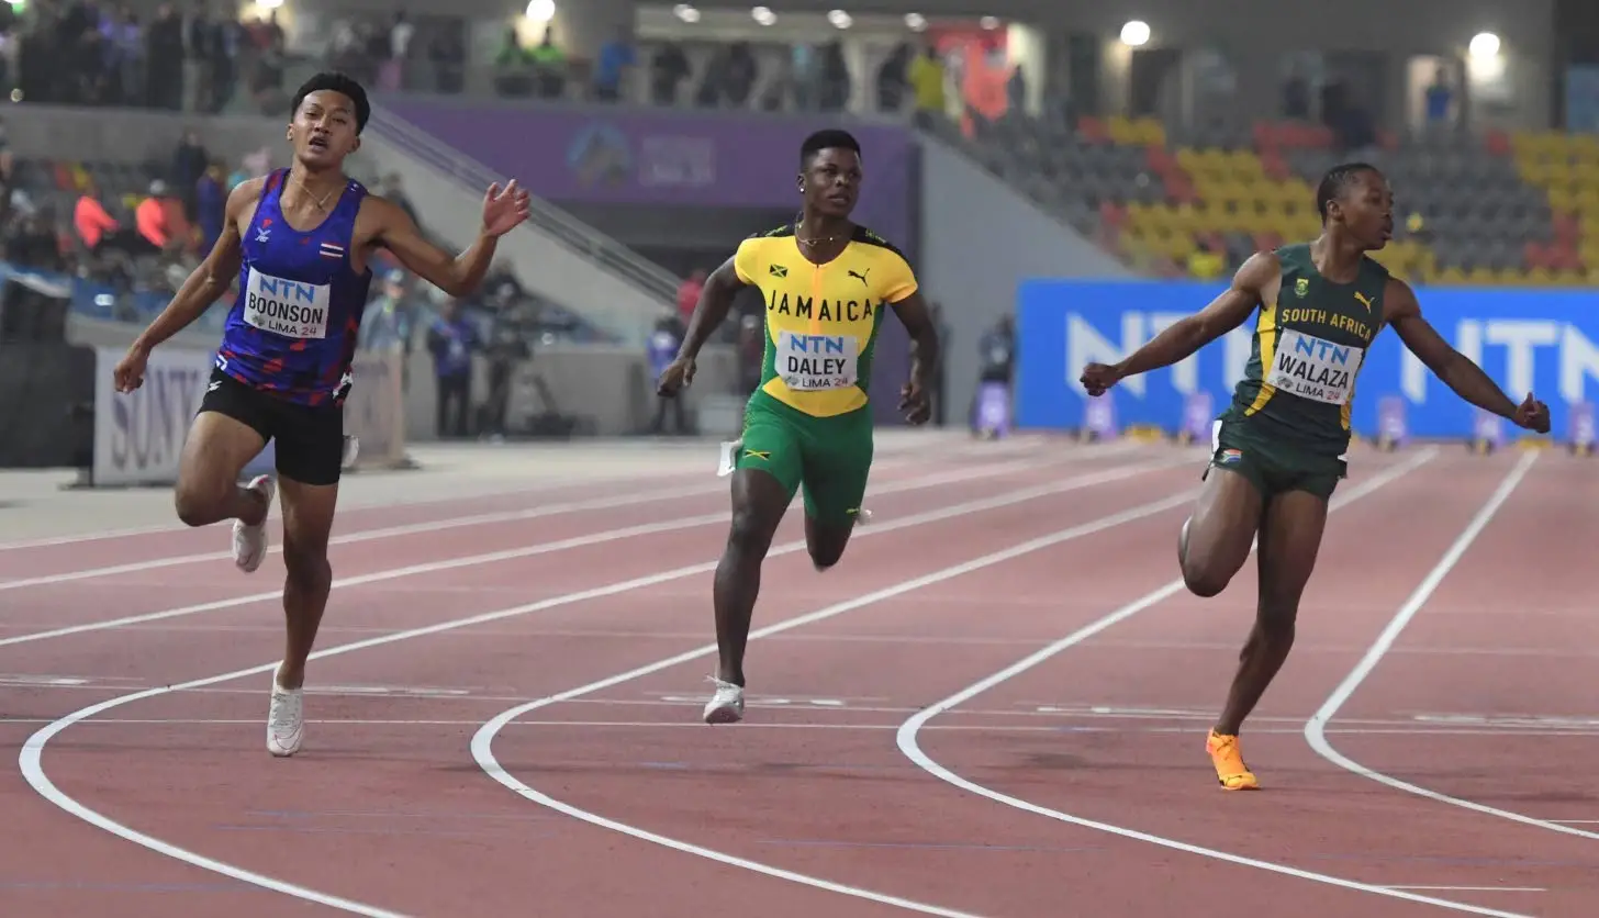
[(1226, 705), (1206, 737), (1225, 790), (1258, 787), (1238, 731), (1294, 646), (1300, 595), (1316, 565), (1327, 499), (1345, 473), (1350, 406), (1361, 360), (1385, 325), (1466, 401), (1519, 427), (1549, 432), (1549, 409), (1516, 405), (1422, 318), (1409, 285), (1366, 253), (1393, 237), (1393, 192), (1366, 163), (1334, 168), (1316, 189), (1321, 238), (1255, 253), (1231, 288), (1115, 366), (1083, 371), (1089, 395), (1170, 366), (1255, 317), (1254, 352), (1233, 405), (1215, 425), (1204, 491), (1183, 523), (1177, 557), (1198, 597), (1226, 589), (1260, 537), (1260, 598)]

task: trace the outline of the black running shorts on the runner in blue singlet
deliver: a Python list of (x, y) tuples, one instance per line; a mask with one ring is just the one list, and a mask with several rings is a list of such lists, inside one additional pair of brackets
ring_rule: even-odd
[(337, 485), (344, 467), (344, 406), (294, 405), (211, 369), (200, 411), (216, 411), (277, 441), (278, 475), (301, 485)]

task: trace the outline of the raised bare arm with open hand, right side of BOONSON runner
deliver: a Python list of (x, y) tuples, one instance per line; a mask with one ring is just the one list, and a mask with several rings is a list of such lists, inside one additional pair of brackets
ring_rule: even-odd
[(459, 256), (451, 256), (422, 238), (422, 230), (400, 205), (377, 195), (366, 200), (377, 221), (371, 235), (373, 243), (392, 251), (406, 270), (449, 296), (467, 296), (477, 289), (494, 261), (499, 237), (528, 219), (528, 192), (516, 187), (516, 179), (512, 179), (505, 190), (496, 182), (483, 195), (483, 226), (478, 229), (478, 238)]

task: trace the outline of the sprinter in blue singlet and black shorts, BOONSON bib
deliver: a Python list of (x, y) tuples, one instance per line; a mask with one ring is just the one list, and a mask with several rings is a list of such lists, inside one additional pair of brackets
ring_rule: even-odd
[[(294, 163), (251, 179), (227, 198), (222, 235), (206, 259), (117, 365), (118, 392), (144, 382), (150, 350), (198, 318), (238, 280), (216, 369), (189, 430), (177, 472), (177, 518), (190, 526), (233, 520), (233, 561), (249, 573), (267, 555), (267, 512), (283, 505), (283, 662), (272, 678), (267, 750), (294, 755), (304, 740), (305, 659), (328, 605), (328, 533), (344, 457), (344, 397), (353, 379), (371, 256), (384, 248), (453, 296), (477, 289), (499, 237), (528, 219), (528, 194), (489, 186), (478, 238), (456, 257), (422, 238), (392, 202), (344, 174), (371, 115), (366, 91), (318, 74), (294, 94), (288, 139)], [(238, 485), (245, 465), (277, 443), (277, 477)]]

